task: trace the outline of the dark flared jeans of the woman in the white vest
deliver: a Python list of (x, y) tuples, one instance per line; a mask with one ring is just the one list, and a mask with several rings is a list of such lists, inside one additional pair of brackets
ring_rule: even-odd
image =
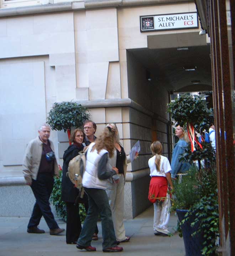
[(109, 206), (108, 196), (105, 190), (98, 188), (85, 188), (85, 192), (88, 196), (89, 208), (77, 244), (85, 247), (90, 246), (98, 220), (98, 215), (100, 213), (103, 250), (116, 246), (112, 214)]

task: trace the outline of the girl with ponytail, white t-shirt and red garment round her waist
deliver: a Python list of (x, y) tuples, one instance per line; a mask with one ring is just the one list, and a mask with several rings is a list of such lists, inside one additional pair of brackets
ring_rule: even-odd
[(151, 151), (154, 156), (148, 160), (151, 176), (148, 200), (154, 204), (153, 232), (155, 235), (167, 236), (169, 233), (169, 208), (171, 207), (171, 200), (166, 198), (168, 183), (170, 189), (173, 190), (171, 165), (167, 157), (161, 156), (162, 144), (160, 141), (151, 144)]

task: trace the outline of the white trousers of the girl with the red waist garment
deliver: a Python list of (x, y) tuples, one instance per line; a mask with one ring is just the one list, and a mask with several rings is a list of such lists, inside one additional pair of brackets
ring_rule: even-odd
[(167, 198), (163, 202), (155, 202), (153, 216), (153, 232), (169, 233), (168, 222), (170, 218), (169, 210), (171, 208), (171, 200), (167, 193)]

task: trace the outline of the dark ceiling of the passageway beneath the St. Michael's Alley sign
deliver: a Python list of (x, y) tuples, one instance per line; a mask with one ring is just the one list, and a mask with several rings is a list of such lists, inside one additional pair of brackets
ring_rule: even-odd
[[(212, 90), (210, 45), (128, 51), (169, 91)], [(186, 71), (194, 67), (195, 71)]]

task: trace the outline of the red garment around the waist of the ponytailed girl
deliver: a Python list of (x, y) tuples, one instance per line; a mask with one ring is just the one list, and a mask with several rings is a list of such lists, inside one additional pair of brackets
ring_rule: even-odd
[[(160, 197), (166, 197), (167, 195), (167, 178), (163, 176), (155, 176), (151, 178), (150, 184), (149, 184), (149, 190), (148, 190), (148, 200), (151, 203), (155, 203), (158, 201), (164, 201), (165, 198)], [(156, 199), (159, 198), (159, 199)]]

